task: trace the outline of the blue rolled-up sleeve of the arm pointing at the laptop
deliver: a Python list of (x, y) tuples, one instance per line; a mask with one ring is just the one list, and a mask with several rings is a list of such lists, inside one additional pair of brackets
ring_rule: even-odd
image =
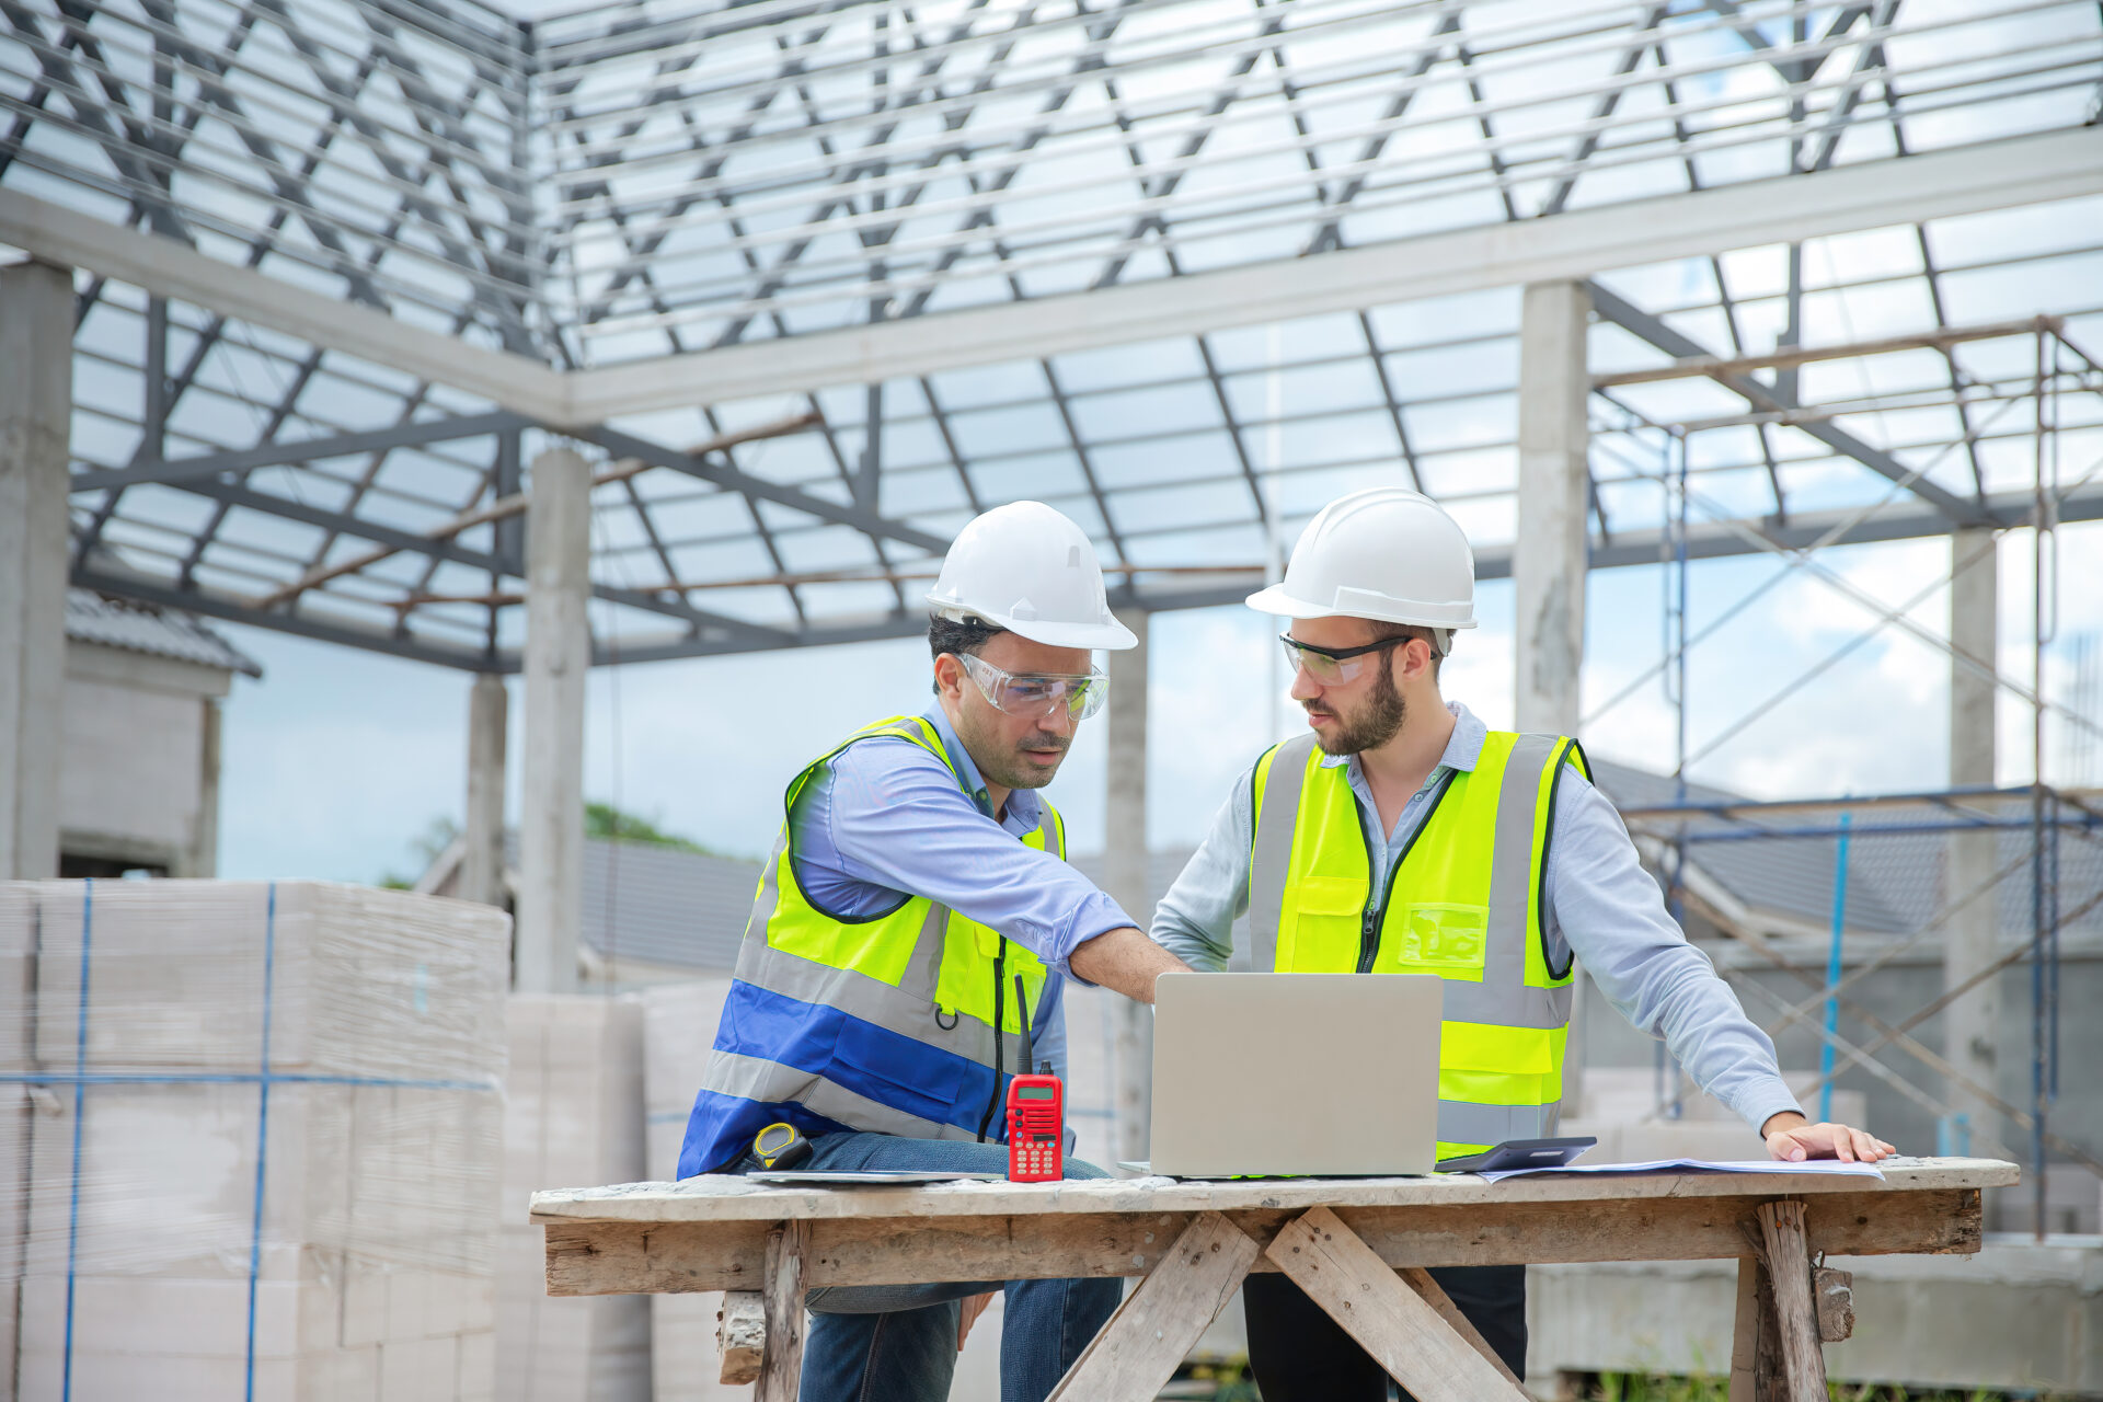
[[(810, 870), (805, 883), (818, 902), (829, 885), (843, 883), (923, 895), (1001, 931), (1068, 977), (1077, 946), (1134, 925), (1075, 866), (1024, 847), (980, 811), (948, 767), (917, 744), (879, 736), (848, 746), (833, 759), (820, 797), (797, 811), (799, 832), (816, 826), (831, 847), (829, 860), (812, 862), (831, 870)], [(805, 870), (799, 862), (799, 879)]]

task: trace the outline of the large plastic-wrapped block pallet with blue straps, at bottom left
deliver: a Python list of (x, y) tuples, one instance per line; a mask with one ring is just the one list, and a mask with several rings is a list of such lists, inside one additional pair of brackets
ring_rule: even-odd
[(494, 1396), (509, 916), (6, 883), (0, 965), (0, 1343), (25, 1402)]

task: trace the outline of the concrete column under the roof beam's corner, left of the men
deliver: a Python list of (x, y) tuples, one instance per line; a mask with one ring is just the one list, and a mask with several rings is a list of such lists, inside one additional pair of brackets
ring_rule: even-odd
[(591, 469), (532, 465), (526, 515), (526, 795), (519, 805), (519, 992), (574, 992), (585, 919), (585, 671), (591, 666)]

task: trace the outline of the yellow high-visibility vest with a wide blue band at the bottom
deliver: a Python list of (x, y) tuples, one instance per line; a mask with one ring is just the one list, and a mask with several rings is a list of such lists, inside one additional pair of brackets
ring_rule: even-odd
[[(787, 813), (841, 750), (875, 736), (917, 744), (957, 774), (934, 725), (892, 717), (797, 774)], [(1007, 1080), (1030, 1070), (1024, 1019), (1043, 994), (1043, 963), (923, 895), (873, 916), (826, 914), (797, 883), (789, 830), (784, 822), (744, 925), (679, 1177), (728, 1167), (776, 1120), (805, 1135), (1003, 1139)], [(1066, 855), (1049, 803), (1022, 843)]]

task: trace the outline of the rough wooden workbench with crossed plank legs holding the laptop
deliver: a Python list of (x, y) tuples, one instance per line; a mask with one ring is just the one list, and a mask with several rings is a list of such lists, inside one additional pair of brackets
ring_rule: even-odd
[(1516, 1402), (1518, 1381), (1432, 1265), (1739, 1259), (1733, 1402), (1823, 1402), (1849, 1316), (1823, 1255), (1971, 1253), (2008, 1162), (1895, 1158), (1842, 1175), (763, 1188), (740, 1177), (536, 1192), (551, 1295), (757, 1291), (757, 1402), (793, 1402), (803, 1291), (1144, 1276), (1056, 1402), (1150, 1402), (1251, 1270), (1283, 1270), (1420, 1402)]

